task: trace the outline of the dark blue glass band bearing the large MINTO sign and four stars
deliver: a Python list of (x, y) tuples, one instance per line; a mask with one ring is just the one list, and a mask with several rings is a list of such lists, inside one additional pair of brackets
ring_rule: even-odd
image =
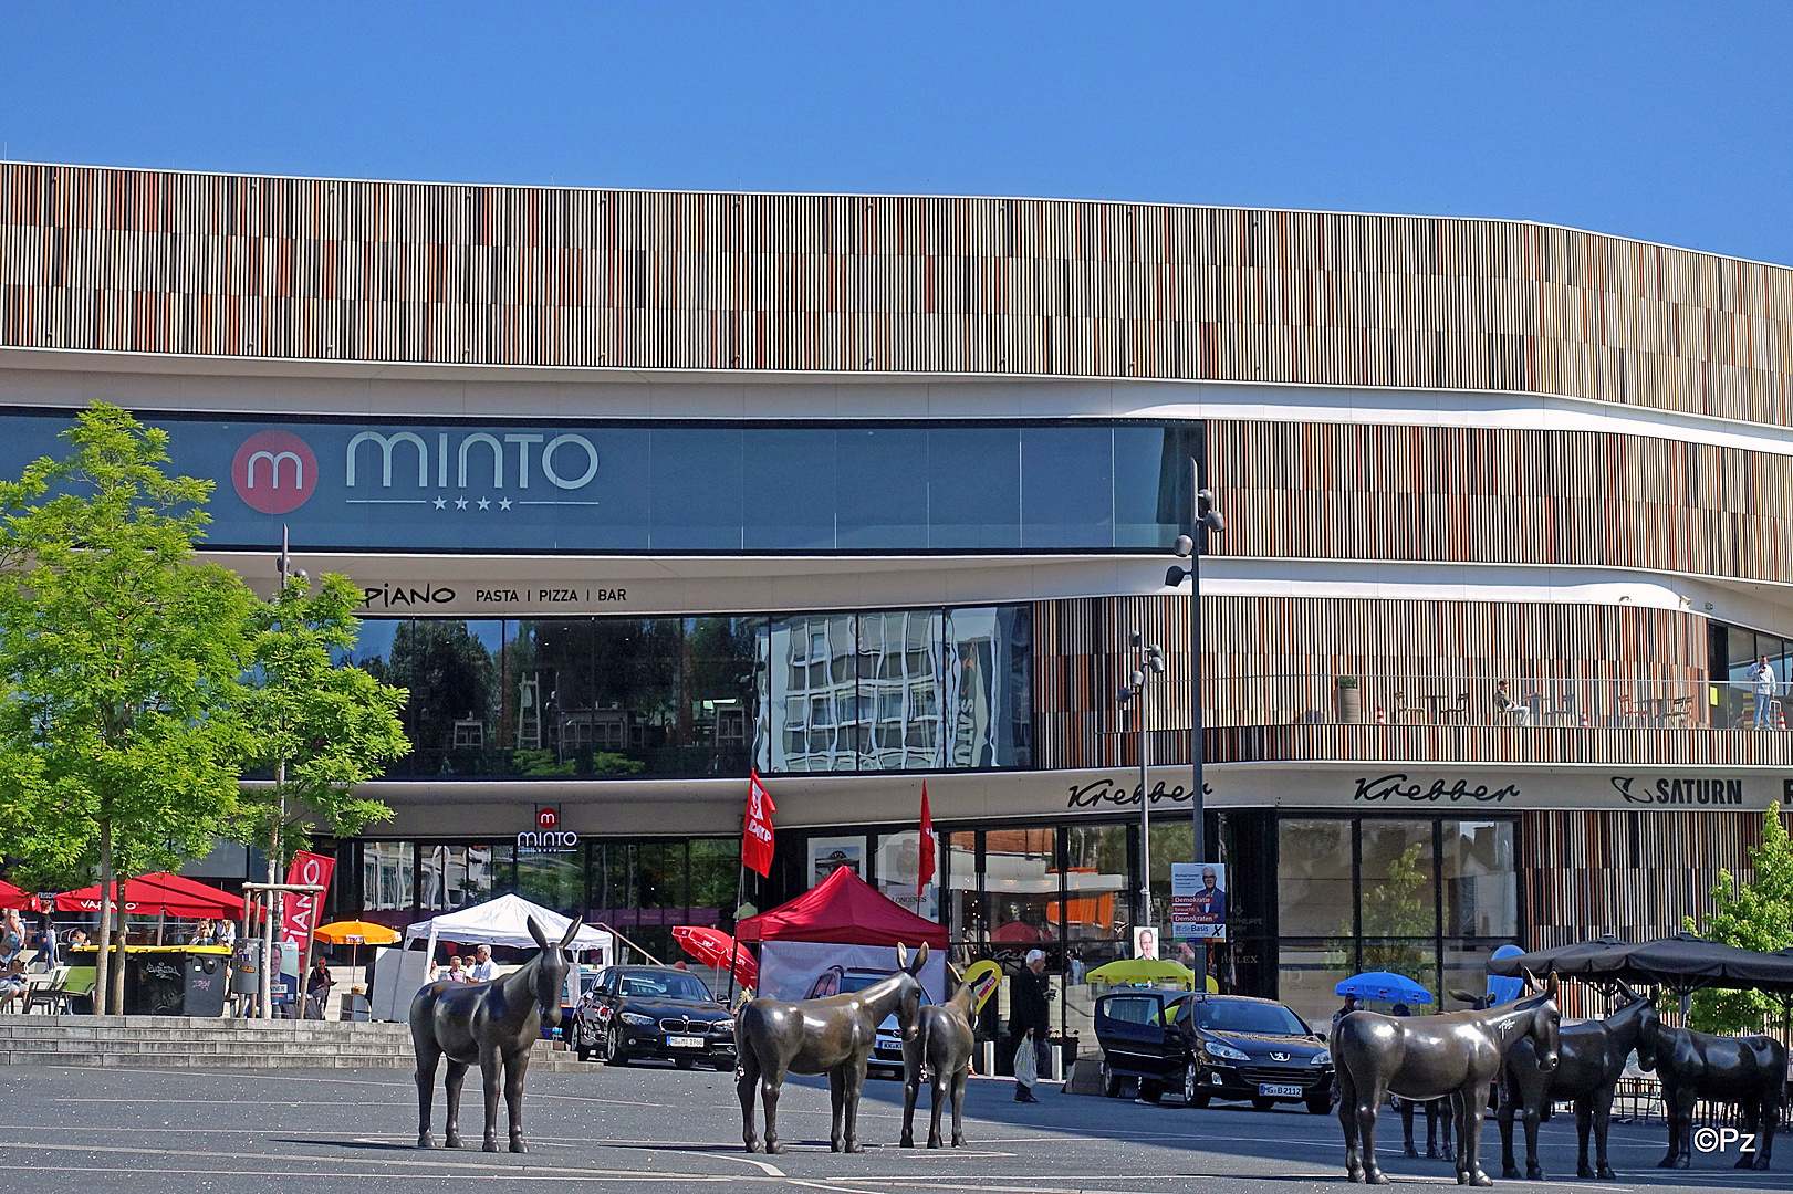
[[(1165, 547), (1198, 425), (350, 423), (147, 416), (212, 547), (900, 552)], [(63, 455), (9, 414), (0, 468)]]

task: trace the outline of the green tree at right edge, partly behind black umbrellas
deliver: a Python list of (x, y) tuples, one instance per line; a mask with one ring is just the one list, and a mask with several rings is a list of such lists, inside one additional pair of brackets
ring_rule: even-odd
[[(1689, 916), (1687, 930), (1761, 954), (1793, 947), (1793, 837), (1788, 837), (1779, 803), (1768, 805), (1763, 816), (1763, 843), (1750, 850), (1750, 868), (1755, 878), (1748, 884), (1719, 871), (1712, 911), (1703, 925)], [(1784, 1015), (1773, 995), (1696, 991), (1689, 1024), (1703, 1033), (1759, 1033), (1770, 1015)]]

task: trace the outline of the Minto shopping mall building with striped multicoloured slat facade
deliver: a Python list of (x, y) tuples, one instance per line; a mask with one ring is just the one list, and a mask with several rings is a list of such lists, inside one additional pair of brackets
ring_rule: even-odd
[[(1235, 990), (1678, 929), (1793, 780), (1793, 271), (1510, 221), (0, 165), (0, 463), (126, 405), (411, 692), (339, 914), (649, 948), (848, 864), (1063, 977), (1191, 846)], [(1782, 638), (1782, 635), (1786, 638)], [(1504, 683), (1504, 688), (1503, 688)], [(1793, 696), (1786, 697), (1793, 701)], [(1757, 724), (1761, 721), (1763, 724)], [(923, 782), (941, 830), (916, 896)], [(1164, 918), (1162, 907), (1153, 913)], [(1076, 993), (1072, 993), (1076, 995)], [(1065, 999), (1078, 1017), (1078, 999)]]

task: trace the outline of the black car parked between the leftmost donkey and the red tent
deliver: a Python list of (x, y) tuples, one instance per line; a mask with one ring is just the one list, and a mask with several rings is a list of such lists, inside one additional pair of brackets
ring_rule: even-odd
[(581, 1061), (640, 1058), (735, 1069), (735, 1018), (703, 979), (672, 966), (611, 966), (579, 999), (567, 1042)]

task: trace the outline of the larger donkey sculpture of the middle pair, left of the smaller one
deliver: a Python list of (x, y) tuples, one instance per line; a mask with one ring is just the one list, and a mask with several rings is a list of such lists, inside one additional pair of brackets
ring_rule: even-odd
[[(834, 1103), (828, 1142), (836, 1153), (864, 1153), (859, 1144), (859, 1092), (866, 1085), (866, 1060), (879, 1024), (896, 1013), (902, 1040), (914, 1040), (922, 984), (916, 973), (927, 961), (923, 943), (909, 961), (896, 947), (896, 973), (861, 991), (784, 1002), (749, 999), (735, 1015), (735, 1094), (741, 1095), (742, 1140), (749, 1153), (784, 1153), (778, 1140), (778, 1094), (785, 1074), (827, 1074)], [(766, 1142), (753, 1129), (753, 1088), (766, 1103)]]

